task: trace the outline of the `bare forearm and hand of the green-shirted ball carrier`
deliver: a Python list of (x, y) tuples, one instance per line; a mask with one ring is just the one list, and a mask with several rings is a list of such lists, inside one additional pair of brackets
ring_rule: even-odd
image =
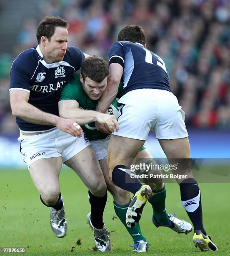
[(60, 116), (70, 118), (80, 125), (92, 122), (106, 124), (110, 131), (119, 129), (117, 120), (114, 115), (102, 114), (94, 110), (84, 110), (79, 108), (76, 100), (60, 100), (58, 103)]

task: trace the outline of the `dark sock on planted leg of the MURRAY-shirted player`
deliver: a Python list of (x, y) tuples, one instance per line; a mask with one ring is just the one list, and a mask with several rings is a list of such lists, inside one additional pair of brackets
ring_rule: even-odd
[(95, 197), (95, 195), (92, 195), (90, 190), (89, 193), (89, 201), (91, 205), (91, 215), (90, 220), (92, 222), (92, 225), (97, 229), (103, 228), (103, 213), (105, 210), (105, 205), (107, 202), (107, 191), (103, 197)]

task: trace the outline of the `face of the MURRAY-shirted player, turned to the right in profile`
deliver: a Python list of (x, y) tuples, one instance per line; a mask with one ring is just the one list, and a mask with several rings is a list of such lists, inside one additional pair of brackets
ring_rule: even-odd
[(45, 41), (45, 56), (47, 63), (62, 61), (67, 50), (68, 31), (66, 28), (56, 27), (50, 41)]

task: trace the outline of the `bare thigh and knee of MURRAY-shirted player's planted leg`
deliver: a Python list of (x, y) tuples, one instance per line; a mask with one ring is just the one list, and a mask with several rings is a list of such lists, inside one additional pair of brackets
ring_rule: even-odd
[(92, 146), (87, 146), (65, 164), (73, 169), (89, 189), (105, 184), (105, 179)]

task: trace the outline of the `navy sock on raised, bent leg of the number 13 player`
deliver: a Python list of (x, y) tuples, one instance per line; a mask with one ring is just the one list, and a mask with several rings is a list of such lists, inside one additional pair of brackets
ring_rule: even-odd
[(117, 187), (128, 190), (135, 194), (142, 185), (137, 178), (130, 177), (130, 174), (132, 173), (133, 172), (131, 172), (130, 168), (127, 166), (121, 164), (117, 165), (112, 170), (112, 182)]

